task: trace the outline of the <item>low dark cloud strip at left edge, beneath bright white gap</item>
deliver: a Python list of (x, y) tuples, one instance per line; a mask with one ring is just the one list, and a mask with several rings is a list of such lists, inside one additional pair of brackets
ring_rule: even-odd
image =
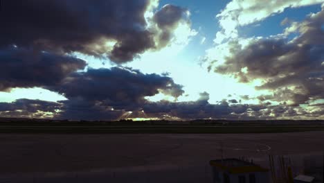
[[(2, 117), (34, 117), (51, 118), (62, 104), (39, 100), (19, 99), (12, 103), (0, 103), (0, 116)], [(50, 114), (44, 114), (49, 112)]]

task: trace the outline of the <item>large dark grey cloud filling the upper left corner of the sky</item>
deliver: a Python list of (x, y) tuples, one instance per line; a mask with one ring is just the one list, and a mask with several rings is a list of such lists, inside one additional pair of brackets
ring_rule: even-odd
[[(154, 42), (159, 30), (147, 27), (144, 17), (152, 8), (149, 0), (12, 0), (1, 6), (0, 34), (6, 36), (0, 37), (0, 47), (16, 44), (60, 54), (78, 51), (123, 63), (159, 44)], [(152, 24), (168, 35), (159, 39), (164, 46), (182, 11), (165, 6), (154, 15)], [(108, 41), (116, 44), (111, 48)]]

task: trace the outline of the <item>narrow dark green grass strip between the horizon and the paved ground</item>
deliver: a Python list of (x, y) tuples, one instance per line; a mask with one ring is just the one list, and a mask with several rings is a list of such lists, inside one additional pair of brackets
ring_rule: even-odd
[(0, 125), (0, 133), (141, 134), (278, 133), (324, 131), (324, 125)]

